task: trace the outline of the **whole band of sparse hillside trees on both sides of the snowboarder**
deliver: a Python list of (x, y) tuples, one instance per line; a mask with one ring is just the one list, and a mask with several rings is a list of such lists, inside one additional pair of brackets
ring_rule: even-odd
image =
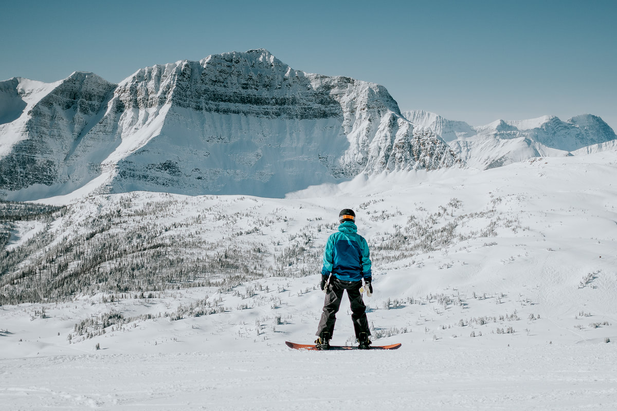
[[(398, 210), (370, 210), (381, 201), (371, 200), (360, 208), (370, 219), (400, 220)], [(0, 205), (8, 210), (1, 215), (46, 224), (25, 244), (0, 251), (0, 304), (179, 287), (230, 292), (241, 283), (267, 276), (315, 275), (321, 269), (323, 242), (337, 227), (336, 222), (307, 218), (304, 227), (283, 235), (293, 221), (283, 214), (289, 210), (265, 217), (259, 200), (244, 197), (189, 200), (128, 193), (62, 208)], [(234, 206), (241, 206), (241, 219), (236, 218)], [(456, 215), (461, 208), (456, 198), (434, 213), (418, 207), (418, 215), (409, 216), (405, 226), (395, 225), (394, 231), (369, 239), (373, 263), (378, 266), (444, 250), (468, 238), (496, 235), (499, 227), (516, 226), (516, 221), (496, 216), (494, 209)], [(471, 219), (485, 219), (486, 229), (465, 232)], [(281, 235), (265, 235), (273, 227), (281, 227), (277, 229)], [(277, 237), (280, 240), (273, 242)]]

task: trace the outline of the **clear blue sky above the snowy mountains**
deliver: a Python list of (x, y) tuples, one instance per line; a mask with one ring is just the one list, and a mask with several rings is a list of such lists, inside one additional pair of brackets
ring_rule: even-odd
[(263, 47), (383, 84), (402, 110), (473, 125), (592, 113), (617, 129), (617, 1), (9, 1), (0, 79), (139, 68)]

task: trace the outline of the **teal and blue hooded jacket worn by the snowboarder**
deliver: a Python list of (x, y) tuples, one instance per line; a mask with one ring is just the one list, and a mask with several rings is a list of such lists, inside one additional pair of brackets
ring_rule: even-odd
[(332, 273), (340, 280), (360, 281), (371, 278), (368, 244), (351, 221), (342, 222), (338, 232), (330, 235), (323, 252), (321, 274)]

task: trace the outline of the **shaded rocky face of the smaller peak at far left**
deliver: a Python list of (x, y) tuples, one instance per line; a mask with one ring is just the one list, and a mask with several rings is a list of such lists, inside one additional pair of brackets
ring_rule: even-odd
[[(17, 96), (20, 92), (27, 93), (20, 90), (20, 79), (2, 83)], [(115, 84), (99, 76), (76, 72), (30, 110), (4, 124), (0, 129), (4, 152), (0, 158), (0, 188), (12, 191), (35, 184), (51, 186), (67, 182), (73, 153), (99, 120), (99, 113), (114, 89)], [(27, 107), (23, 100), (19, 105)], [(12, 123), (15, 123), (13, 129)], [(13, 144), (7, 144), (6, 140)]]

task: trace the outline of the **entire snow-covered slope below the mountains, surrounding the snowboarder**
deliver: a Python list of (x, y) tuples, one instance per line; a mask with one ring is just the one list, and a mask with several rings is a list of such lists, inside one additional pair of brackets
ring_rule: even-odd
[[(10, 410), (615, 409), (615, 177), (617, 151), (605, 150), (482, 172), (391, 173), (284, 199), (73, 201), (49, 226), (15, 225), (7, 248), (25, 257), (12, 275), (38, 261), (43, 247), (28, 251), (28, 243), (46, 230), (51, 248), (84, 233), (93, 236), (83, 245), (132, 233), (109, 238), (141, 250), (123, 257), (139, 271), (154, 254), (139, 248), (138, 227), (173, 250), (170, 261), (207, 274), (183, 277), (170, 262), (178, 287), (161, 289), (173, 278), (152, 277), (150, 289), (139, 285), (143, 294), (119, 291), (115, 283), (136, 283), (114, 277), (123, 262), (109, 260), (87, 294), (4, 303), (0, 400)], [(314, 339), (318, 260), (344, 207), (356, 210), (373, 253), (375, 293), (365, 298), (373, 340), (401, 342), (397, 351), (284, 346)], [(104, 230), (93, 226), (97, 216)], [(96, 252), (75, 254), (65, 271)], [(245, 263), (235, 283), (233, 252)], [(5, 296), (19, 288), (3, 284)], [(338, 318), (333, 343), (350, 343), (348, 303)]]

